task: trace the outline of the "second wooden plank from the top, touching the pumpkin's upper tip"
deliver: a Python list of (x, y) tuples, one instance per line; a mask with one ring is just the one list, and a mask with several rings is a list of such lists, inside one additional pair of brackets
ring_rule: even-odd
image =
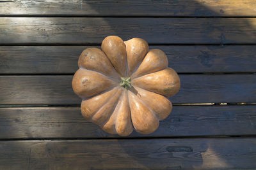
[(256, 18), (3, 17), (2, 45), (100, 44), (109, 35), (150, 44), (256, 43)]

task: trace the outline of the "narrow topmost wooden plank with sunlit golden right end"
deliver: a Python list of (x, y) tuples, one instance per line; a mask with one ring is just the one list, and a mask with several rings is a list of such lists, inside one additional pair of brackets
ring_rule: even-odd
[[(253, 0), (208, 1), (0, 1), (0, 15), (81, 16), (255, 16)], [(7, 6), (7, 8), (6, 8)]]

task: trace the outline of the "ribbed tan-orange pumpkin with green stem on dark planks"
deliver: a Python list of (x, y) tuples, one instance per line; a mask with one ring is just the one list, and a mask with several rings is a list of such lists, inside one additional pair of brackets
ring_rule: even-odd
[(168, 67), (165, 53), (148, 51), (144, 39), (123, 41), (118, 36), (106, 37), (101, 48), (81, 53), (72, 80), (74, 92), (83, 99), (83, 117), (109, 134), (156, 131), (159, 120), (172, 111), (166, 97), (180, 89), (180, 78)]

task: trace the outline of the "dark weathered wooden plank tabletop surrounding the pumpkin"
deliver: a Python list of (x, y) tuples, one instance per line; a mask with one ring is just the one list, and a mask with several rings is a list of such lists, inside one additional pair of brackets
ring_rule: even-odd
[[(256, 1), (0, 1), (0, 169), (256, 169)], [(181, 79), (150, 135), (81, 116), (71, 80), (104, 37), (140, 37)]]

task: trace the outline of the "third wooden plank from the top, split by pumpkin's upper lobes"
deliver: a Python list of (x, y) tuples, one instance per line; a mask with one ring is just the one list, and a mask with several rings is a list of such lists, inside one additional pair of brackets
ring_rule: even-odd
[[(79, 55), (90, 47), (0, 46), (0, 73), (75, 73)], [(254, 45), (150, 46), (150, 49), (154, 48), (166, 53), (169, 67), (178, 73), (256, 72)]]

